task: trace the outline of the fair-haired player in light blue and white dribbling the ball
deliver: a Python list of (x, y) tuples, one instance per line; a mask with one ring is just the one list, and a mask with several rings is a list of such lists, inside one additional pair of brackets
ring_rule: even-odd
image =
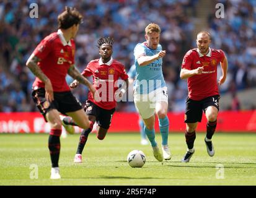
[[(135, 77), (135, 106), (144, 121), (144, 131), (151, 142), (154, 157), (158, 161), (170, 160), (168, 147), (169, 119), (167, 117), (168, 94), (166, 82), (162, 74), (162, 58), (166, 51), (159, 44), (161, 28), (151, 23), (145, 28), (146, 41), (138, 43), (134, 49)], [(162, 152), (155, 139), (155, 116), (159, 119), (162, 136)]]

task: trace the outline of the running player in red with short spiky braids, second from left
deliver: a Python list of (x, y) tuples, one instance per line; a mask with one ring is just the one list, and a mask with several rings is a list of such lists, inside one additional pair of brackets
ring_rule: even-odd
[[(90, 61), (86, 69), (82, 72), (82, 75), (85, 77), (92, 75), (94, 87), (100, 94), (100, 101), (95, 101), (92, 97), (92, 93), (89, 92), (84, 110), (89, 116), (90, 127), (89, 129), (84, 129), (81, 133), (74, 162), (82, 162), (82, 150), (84, 150), (87, 138), (95, 122), (98, 126), (97, 138), (99, 140), (105, 138), (108, 128), (110, 127), (113, 113), (115, 112), (115, 106), (117, 105), (115, 98), (121, 97), (129, 84), (125, 66), (112, 58), (113, 39), (109, 37), (100, 38), (98, 45), (100, 59)], [(125, 80), (125, 83), (120, 88), (115, 85), (119, 78)], [(74, 80), (70, 87), (75, 88), (78, 84), (79, 82)], [(63, 122), (65, 124), (76, 125), (76, 121), (68, 117), (64, 118)]]

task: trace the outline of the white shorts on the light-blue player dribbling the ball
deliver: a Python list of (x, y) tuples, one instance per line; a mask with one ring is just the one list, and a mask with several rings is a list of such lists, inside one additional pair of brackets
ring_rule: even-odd
[(156, 104), (164, 101), (168, 103), (167, 87), (157, 88), (148, 94), (134, 93), (135, 107), (141, 118), (148, 119), (155, 113)]

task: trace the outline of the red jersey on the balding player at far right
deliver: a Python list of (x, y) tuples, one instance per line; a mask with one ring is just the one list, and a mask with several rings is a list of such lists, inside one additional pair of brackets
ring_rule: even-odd
[(217, 66), (224, 61), (224, 52), (221, 49), (211, 49), (203, 55), (197, 48), (190, 49), (182, 62), (182, 69), (196, 69), (203, 66), (201, 75), (188, 78), (188, 97), (192, 100), (202, 100), (212, 95), (218, 95)]

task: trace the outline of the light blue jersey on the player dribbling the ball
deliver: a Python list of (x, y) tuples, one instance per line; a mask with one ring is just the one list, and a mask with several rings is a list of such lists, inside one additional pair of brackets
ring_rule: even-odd
[(162, 74), (162, 58), (151, 62), (146, 66), (139, 66), (138, 58), (141, 55), (154, 56), (162, 50), (162, 46), (158, 44), (157, 49), (150, 49), (144, 43), (138, 43), (134, 49), (136, 76), (135, 90), (139, 94), (150, 93), (157, 88), (166, 87), (164, 75)]

